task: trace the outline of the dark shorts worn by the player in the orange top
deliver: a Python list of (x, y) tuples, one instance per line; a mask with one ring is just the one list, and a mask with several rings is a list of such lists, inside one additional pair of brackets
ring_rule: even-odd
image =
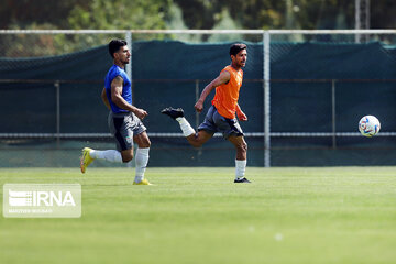
[(228, 139), (230, 135), (243, 135), (243, 131), (238, 120), (235, 118), (224, 118), (218, 112), (215, 106), (209, 108), (204, 122), (198, 127), (198, 131), (200, 130), (205, 130), (211, 134), (221, 132), (226, 139)]

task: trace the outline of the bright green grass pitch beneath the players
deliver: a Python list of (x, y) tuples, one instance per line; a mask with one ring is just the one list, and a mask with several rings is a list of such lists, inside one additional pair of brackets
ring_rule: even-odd
[[(0, 263), (396, 263), (396, 168), (0, 169), (79, 183), (79, 219), (0, 218)], [(2, 205), (2, 202), (1, 202)]]

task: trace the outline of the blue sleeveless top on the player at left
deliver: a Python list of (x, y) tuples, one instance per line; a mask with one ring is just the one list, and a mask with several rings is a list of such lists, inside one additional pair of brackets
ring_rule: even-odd
[(121, 67), (117, 66), (116, 64), (113, 66), (111, 66), (111, 68), (109, 69), (109, 73), (107, 74), (106, 79), (105, 79), (106, 95), (109, 99), (111, 111), (113, 111), (114, 113), (128, 112), (128, 110), (116, 106), (116, 103), (111, 100), (111, 81), (117, 76), (121, 76), (123, 79), (122, 94), (121, 94), (122, 98), (125, 99), (125, 101), (128, 101), (130, 105), (132, 105), (131, 80), (128, 77), (125, 70), (122, 69)]

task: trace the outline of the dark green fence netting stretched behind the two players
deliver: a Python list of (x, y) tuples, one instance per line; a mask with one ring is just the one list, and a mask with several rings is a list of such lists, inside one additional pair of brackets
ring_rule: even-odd
[[(184, 108), (193, 127), (202, 121), (204, 114), (196, 119), (194, 111), (196, 89), (200, 92), (230, 63), (230, 44), (132, 44), (133, 101), (148, 112), (144, 120), (148, 133), (180, 132), (177, 123), (160, 113), (168, 106)], [(249, 122), (241, 125), (244, 132), (263, 133), (263, 44), (248, 45), (240, 106)], [(271, 132), (332, 132), (333, 128), (336, 132), (356, 132), (365, 114), (380, 119), (382, 132), (396, 131), (395, 51), (380, 42), (271, 43)], [(56, 133), (58, 129), (61, 133), (108, 133), (108, 111), (100, 92), (111, 65), (107, 46), (59, 56), (0, 58), (0, 133)], [(151, 166), (234, 164), (234, 150), (222, 138), (199, 150), (183, 138), (151, 140)], [(249, 165), (263, 166), (263, 136), (246, 141)], [(395, 165), (395, 141), (391, 135), (338, 136), (337, 142), (331, 136), (272, 136), (272, 165)], [(108, 138), (2, 138), (0, 166), (74, 166), (85, 145), (113, 148)]]

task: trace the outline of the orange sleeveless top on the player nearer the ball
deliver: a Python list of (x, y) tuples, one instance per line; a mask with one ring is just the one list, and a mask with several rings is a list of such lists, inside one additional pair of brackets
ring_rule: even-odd
[(231, 65), (224, 67), (221, 73), (224, 70), (230, 73), (230, 80), (227, 84), (216, 87), (216, 95), (211, 102), (221, 116), (228, 119), (234, 119), (239, 90), (242, 86), (243, 70), (237, 70), (231, 67)]

